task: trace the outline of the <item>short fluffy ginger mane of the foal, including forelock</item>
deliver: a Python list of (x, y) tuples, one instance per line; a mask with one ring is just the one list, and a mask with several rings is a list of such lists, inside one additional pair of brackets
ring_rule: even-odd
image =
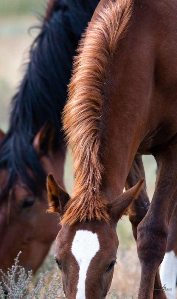
[(63, 130), (71, 148), (75, 183), (62, 223), (91, 219), (108, 221), (100, 198), (104, 167), (100, 161), (100, 123), (104, 82), (117, 42), (128, 28), (133, 0), (109, 0), (94, 18), (78, 48), (69, 98), (63, 111)]

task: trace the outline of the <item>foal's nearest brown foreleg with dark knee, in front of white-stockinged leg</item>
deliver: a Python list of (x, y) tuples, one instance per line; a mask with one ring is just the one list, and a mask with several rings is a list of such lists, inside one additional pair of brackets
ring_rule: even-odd
[(168, 225), (176, 206), (176, 147), (173, 140), (165, 151), (154, 153), (158, 166), (156, 188), (150, 208), (138, 225), (137, 234), (137, 251), (142, 268), (139, 299), (166, 298), (165, 287), (159, 283), (156, 272), (164, 258)]

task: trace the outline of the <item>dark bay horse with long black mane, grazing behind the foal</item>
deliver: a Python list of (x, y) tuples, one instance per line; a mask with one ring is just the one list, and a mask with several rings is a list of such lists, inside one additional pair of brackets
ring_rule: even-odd
[(21, 250), (21, 265), (35, 272), (58, 233), (58, 217), (45, 212), (46, 176), (54, 172), (63, 186), (65, 144), (60, 115), (72, 57), (97, 3), (49, 1), (12, 100), (8, 132), (0, 131), (0, 268), (4, 271)]

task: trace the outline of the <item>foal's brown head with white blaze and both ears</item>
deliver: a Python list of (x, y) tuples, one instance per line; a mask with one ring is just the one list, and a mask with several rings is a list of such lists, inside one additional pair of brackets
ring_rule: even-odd
[[(129, 213), (138, 196), (143, 179), (105, 204), (109, 221), (63, 223), (55, 246), (55, 260), (61, 270), (67, 299), (105, 298), (113, 277), (119, 244), (116, 227), (122, 215)], [(70, 196), (56, 183), (52, 174), (47, 178), (49, 211), (58, 212), (61, 222)], [(75, 203), (77, 205), (77, 202)], [(72, 219), (72, 214), (70, 215)]]

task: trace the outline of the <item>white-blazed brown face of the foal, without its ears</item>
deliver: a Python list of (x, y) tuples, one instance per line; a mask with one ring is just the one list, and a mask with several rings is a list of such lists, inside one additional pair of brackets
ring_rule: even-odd
[(105, 298), (118, 247), (115, 227), (98, 221), (63, 225), (55, 246), (67, 299)]

